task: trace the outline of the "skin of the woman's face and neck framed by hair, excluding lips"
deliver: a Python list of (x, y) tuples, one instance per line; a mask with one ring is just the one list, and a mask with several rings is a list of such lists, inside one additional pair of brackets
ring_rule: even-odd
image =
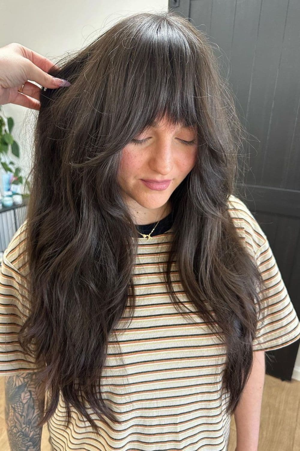
[[(134, 140), (142, 139), (146, 141), (132, 141), (122, 149), (118, 181), (134, 223), (150, 224), (166, 216), (163, 213), (169, 206), (170, 195), (193, 169), (197, 158), (197, 132), (193, 128), (167, 124), (164, 118), (134, 137)], [(166, 179), (170, 179), (169, 186), (160, 190), (142, 181)]]

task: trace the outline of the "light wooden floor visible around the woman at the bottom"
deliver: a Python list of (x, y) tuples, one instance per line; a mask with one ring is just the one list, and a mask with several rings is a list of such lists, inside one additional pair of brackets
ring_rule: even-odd
[[(1, 451), (10, 451), (4, 420), (4, 377), (0, 377), (0, 444)], [(233, 417), (230, 423), (228, 451), (234, 451), (235, 445), (236, 429)], [(299, 450), (300, 382), (293, 379), (291, 382), (283, 382), (266, 374), (260, 417), (259, 451)], [(43, 429), (41, 451), (50, 451), (47, 426)]]

